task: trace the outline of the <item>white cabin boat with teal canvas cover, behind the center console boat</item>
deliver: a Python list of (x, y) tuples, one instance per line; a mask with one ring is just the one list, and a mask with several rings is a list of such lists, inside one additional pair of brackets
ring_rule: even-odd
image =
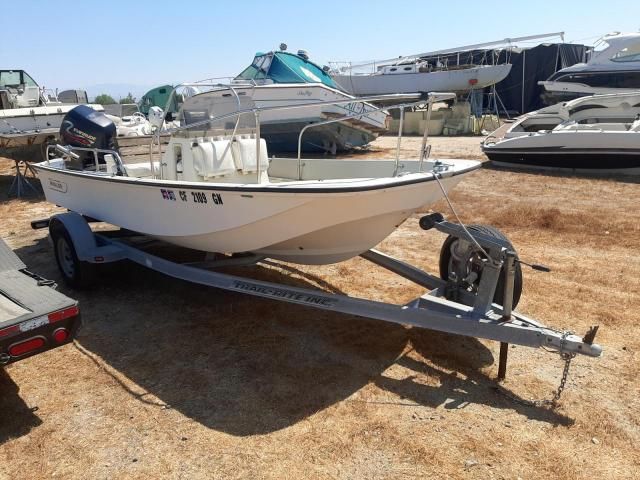
[[(328, 105), (326, 102), (354, 98), (339, 89), (328, 68), (309, 60), (306, 52), (279, 51), (257, 53), (251, 65), (233, 81), (239, 97), (251, 99), (258, 107), (298, 105), (325, 102), (317, 108), (269, 110), (261, 114), (261, 135), (269, 151), (295, 152), (298, 136), (309, 124), (325, 122), (305, 131), (302, 150), (335, 154), (367, 145), (387, 128), (387, 113), (369, 103), (357, 102)], [(189, 98), (189, 102), (209, 103), (219, 97), (230, 97), (228, 89), (213, 89)], [(327, 123), (353, 112), (361, 117)]]

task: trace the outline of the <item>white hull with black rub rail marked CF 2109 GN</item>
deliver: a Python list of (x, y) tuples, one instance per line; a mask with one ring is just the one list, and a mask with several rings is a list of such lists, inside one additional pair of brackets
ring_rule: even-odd
[[(444, 187), (452, 188), (478, 166), (456, 160), (455, 169), (443, 175)], [(255, 252), (306, 264), (359, 255), (442, 196), (431, 173), (285, 185), (143, 180), (45, 164), (35, 168), (47, 200), (77, 213), (196, 250)]]

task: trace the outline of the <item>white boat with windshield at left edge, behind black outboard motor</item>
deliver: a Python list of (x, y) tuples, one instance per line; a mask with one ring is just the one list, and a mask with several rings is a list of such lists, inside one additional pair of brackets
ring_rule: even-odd
[[(0, 135), (20, 135), (60, 128), (77, 104), (60, 102), (44, 92), (24, 70), (0, 70)], [(91, 105), (102, 110), (101, 105)]]

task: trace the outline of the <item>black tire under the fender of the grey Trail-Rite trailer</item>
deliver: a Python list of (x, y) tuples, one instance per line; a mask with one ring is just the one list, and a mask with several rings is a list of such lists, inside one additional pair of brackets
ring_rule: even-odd
[(78, 259), (71, 236), (64, 225), (57, 223), (51, 226), (49, 233), (53, 242), (58, 270), (65, 283), (70, 287), (88, 288), (95, 280), (96, 266)]

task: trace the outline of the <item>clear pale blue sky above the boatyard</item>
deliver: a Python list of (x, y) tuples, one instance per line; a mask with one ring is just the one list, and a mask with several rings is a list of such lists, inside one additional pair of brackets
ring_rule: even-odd
[(640, 29), (638, 0), (23, 0), (11, 5), (3, 8), (0, 68), (23, 68), (40, 85), (60, 89), (235, 75), (256, 51), (281, 42), (325, 64), (554, 31), (565, 31), (567, 41), (589, 43), (611, 31)]

